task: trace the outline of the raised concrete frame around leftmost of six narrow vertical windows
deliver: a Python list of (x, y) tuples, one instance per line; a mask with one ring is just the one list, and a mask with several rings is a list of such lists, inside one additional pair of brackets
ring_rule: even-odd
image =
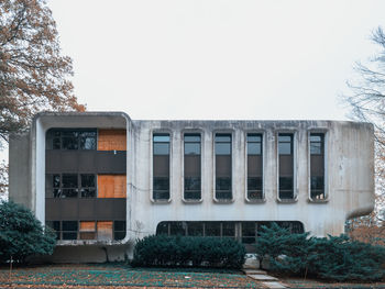
[[(168, 134), (169, 136), (169, 149), (168, 149), (168, 182), (169, 182), (169, 187), (168, 187), (168, 199), (154, 199), (154, 136), (155, 135), (162, 135), (162, 134)], [(174, 132), (172, 130), (168, 129), (154, 129), (150, 131), (150, 201), (152, 203), (157, 203), (157, 204), (165, 204), (165, 203), (169, 203), (173, 200), (173, 147), (174, 147)]]

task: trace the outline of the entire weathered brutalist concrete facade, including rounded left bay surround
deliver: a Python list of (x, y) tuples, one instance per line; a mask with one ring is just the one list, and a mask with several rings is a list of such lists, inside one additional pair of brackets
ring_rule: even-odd
[[(120, 241), (59, 241), (55, 262), (105, 262), (131, 256), (135, 240), (161, 222), (296, 221), (312, 235), (338, 235), (345, 220), (374, 208), (374, 133), (344, 121), (135, 121), (123, 112), (41, 113), (10, 140), (10, 199), (45, 223), (46, 132), (52, 127), (127, 130), (127, 235)], [(168, 198), (154, 199), (154, 135), (169, 136)], [(199, 135), (200, 196), (184, 198), (184, 136)], [(310, 135), (322, 135), (322, 198), (311, 198)], [(231, 140), (231, 197), (216, 194), (216, 137)], [(248, 135), (261, 136), (262, 197), (248, 194)], [(279, 198), (280, 135), (290, 135), (293, 198)], [(235, 227), (235, 237), (241, 233)]]

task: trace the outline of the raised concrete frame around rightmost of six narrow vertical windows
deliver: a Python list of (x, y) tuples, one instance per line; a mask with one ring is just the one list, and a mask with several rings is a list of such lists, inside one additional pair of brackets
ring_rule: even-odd
[[(310, 134), (323, 134), (323, 193), (324, 199), (311, 198), (311, 154), (310, 154)], [(329, 177), (328, 177), (328, 140), (329, 130), (327, 127), (309, 127), (307, 130), (307, 184), (308, 184), (308, 201), (312, 203), (327, 203), (330, 201)]]

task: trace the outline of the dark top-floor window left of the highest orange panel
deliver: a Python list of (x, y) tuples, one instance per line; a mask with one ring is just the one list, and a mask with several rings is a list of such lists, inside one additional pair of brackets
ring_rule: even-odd
[(97, 149), (96, 129), (51, 129), (46, 134), (47, 149)]

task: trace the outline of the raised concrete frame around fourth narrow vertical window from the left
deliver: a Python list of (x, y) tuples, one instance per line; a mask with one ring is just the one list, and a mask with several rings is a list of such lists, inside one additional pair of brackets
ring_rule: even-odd
[[(248, 189), (248, 135), (249, 134), (260, 134), (262, 136), (262, 148), (261, 148), (261, 154), (262, 154), (262, 199), (250, 199), (248, 196), (249, 189)], [(248, 130), (244, 132), (244, 199), (249, 203), (264, 203), (266, 202), (266, 194), (265, 194), (265, 184), (266, 184), (266, 167), (265, 167), (265, 155), (266, 155), (266, 149), (267, 149), (267, 144), (266, 144), (266, 131), (264, 130)]]

